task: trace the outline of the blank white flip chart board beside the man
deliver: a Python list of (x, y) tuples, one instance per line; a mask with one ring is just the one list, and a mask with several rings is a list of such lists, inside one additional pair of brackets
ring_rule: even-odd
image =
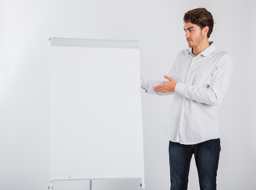
[(50, 40), (50, 179), (144, 177), (138, 41)]

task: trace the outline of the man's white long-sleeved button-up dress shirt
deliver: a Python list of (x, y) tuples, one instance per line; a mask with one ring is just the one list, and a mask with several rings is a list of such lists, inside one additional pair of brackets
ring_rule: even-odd
[(198, 56), (192, 48), (177, 55), (168, 75), (178, 81), (175, 92), (155, 92), (153, 87), (166, 81), (141, 78), (141, 88), (148, 94), (174, 94), (165, 127), (170, 141), (191, 145), (220, 138), (222, 102), (232, 67), (231, 56), (210, 42)]

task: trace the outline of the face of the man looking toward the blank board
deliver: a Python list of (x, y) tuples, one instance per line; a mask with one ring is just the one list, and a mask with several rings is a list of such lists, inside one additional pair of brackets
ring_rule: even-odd
[(189, 43), (189, 47), (197, 47), (204, 40), (202, 29), (191, 22), (184, 23), (184, 31), (186, 32), (186, 40)]

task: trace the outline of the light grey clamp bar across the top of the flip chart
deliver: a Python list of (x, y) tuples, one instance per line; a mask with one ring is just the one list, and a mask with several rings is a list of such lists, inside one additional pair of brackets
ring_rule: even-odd
[(52, 37), (49, 38), (49, 40), (52, 46), (139, 49), (138, 40), (104, 40), (59, 37)]

